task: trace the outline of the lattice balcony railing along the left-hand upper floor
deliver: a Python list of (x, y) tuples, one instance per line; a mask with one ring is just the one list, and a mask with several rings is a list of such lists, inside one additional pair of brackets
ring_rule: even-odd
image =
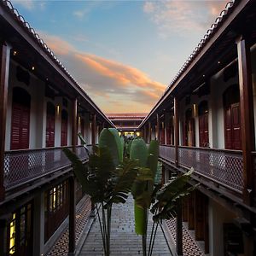
[[(5, 189), (14, 189), (34, 179), (44, 177), (51, 172), (70, 166), (70, 161), (67, 159), (62, 149), (63, 148), (40, 148), (5, 152)], [(84, 147), (77, 146), (76, 149), (76, 153), (81, 160), (88, 158)]]

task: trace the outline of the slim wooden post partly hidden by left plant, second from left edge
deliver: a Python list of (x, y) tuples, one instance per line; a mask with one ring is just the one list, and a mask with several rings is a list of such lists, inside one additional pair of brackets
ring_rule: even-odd
[[(72, 124), (72, 147), (73, 152), (76, 152), (77, 137), (78, 137), (78, 100), (73, 100), (73, 124)], [(69, 184), (69, 222), (68, 222), (68, 255), (75, 254), (75, 229), (76, 229), (76, 198), (75, 198), (75, 183), (74, 177), (68, 179)]]

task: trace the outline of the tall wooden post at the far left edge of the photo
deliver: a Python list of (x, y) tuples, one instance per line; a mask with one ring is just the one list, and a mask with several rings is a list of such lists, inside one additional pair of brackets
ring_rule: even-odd
[(9, 45), (0, 42), (0, 201), (4, 200), (4, 147), (9, 83)]

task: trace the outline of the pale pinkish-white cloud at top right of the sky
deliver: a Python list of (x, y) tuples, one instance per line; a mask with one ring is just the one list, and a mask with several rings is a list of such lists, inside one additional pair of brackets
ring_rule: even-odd
[(206, 32), (225, 3), (225, 0), (147, 1), (143, 12), (158, 26), (160, 37), (168, 38), (174, 33), (184, 36), (193, 31)]

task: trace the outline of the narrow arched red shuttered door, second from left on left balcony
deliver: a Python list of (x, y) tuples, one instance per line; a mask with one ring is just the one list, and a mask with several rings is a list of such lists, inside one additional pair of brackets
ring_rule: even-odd
[(55, 106), (47, 103), (46, 115), (46, 147), (55, 146)]

